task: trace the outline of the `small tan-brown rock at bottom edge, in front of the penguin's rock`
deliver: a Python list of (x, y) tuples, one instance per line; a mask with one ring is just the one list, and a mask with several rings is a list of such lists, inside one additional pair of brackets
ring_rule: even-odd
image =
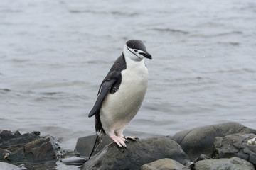
[(189, 170), (188, 167), (180, 164), (173, 159), (159, 159), (149, 164), (144, 164), (139, 170)]

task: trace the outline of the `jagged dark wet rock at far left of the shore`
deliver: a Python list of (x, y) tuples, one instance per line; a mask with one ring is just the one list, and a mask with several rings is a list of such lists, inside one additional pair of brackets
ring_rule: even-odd
[(11, 164), (55, 162), (57, 149), (53, 137), (39, 135), (40, 132), (21, 135), (18, 131), (0, 130), (0, 161)]

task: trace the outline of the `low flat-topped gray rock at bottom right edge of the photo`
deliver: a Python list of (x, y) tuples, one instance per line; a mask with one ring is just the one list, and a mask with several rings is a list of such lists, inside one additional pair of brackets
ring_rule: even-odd
[(195, 170), (255, 170), (254, 166), (238, 157), (222, 158), (222, 159), (206, 159), (196, 162)]

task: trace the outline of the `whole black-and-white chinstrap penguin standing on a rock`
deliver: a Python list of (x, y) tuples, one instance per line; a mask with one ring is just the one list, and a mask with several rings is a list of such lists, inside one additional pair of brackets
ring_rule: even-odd
[[(109, 136), (119, 147), (126, 147), (123, 131), (139, 111), (146, 94), (148, 70), (144, 58), (152, 59), (141, 40), (129, 40), (100, 85), (98, 96), (89, 117), (95, 115), (97, 140)], [(92, 155), (92, 154), (91, 154)], [(90, 156), (91, 156), (90, 155)]]

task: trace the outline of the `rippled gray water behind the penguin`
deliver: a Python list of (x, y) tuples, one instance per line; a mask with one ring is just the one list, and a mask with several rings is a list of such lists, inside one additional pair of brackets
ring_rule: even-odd
[(256, 128), (255, 0), (1, 0), (0, 129), (38, 130), (74, 149), (95, 134), (87, 114), (134, 38), (153, 60), (125, 135), (228, 121)]

